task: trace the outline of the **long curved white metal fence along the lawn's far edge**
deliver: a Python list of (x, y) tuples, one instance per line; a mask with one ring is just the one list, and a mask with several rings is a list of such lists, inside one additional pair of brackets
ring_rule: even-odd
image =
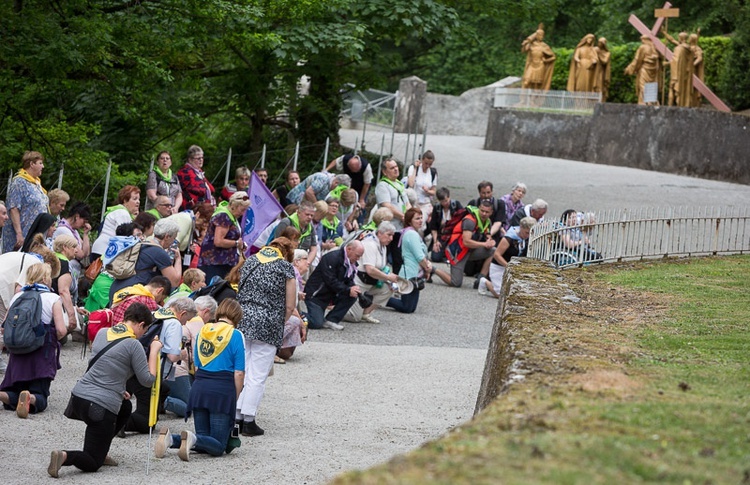
[(534, 226), (527, 256), (559, 267), (668, 256), (750, 252), (750, 209), (660, 208), (578, 216)]

